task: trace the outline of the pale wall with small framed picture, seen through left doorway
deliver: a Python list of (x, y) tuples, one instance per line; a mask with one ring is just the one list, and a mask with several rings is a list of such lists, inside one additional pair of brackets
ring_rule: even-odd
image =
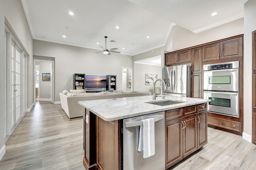
[(39, 100), (50, 100), (50, 81), (42, 81), (42, 74), (51, 72), (51, 63), (48, 61), (36, 63), (39, 65)]

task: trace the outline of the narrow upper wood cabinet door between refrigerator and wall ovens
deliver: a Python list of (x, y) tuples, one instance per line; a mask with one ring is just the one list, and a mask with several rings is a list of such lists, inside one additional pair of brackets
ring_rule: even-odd
[(191, 73), (202, 73), (202, 47), (191, 49)]

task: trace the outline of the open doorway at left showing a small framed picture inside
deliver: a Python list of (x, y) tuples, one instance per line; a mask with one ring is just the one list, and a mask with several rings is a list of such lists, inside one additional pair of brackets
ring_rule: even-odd
[(34, 105), (36, 101), (54, 104), (54, 61), (34, 59)]

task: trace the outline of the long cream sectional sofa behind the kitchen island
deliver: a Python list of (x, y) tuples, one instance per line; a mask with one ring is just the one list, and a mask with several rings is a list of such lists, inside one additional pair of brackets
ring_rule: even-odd
[(60, 103), (61, 103), (62, 109), (65, 111), (65, 113), (68, 115), (70, 119), (83, 116), (85, 109), (80, 104), (78, 104), (79, 101), (151, 95), (151, 92), (135, 92), (135, 91), (75, 93), (75, 94), (70, 94), (66, 92), (68, 91), (63, 90), (63, 92), (60, 93)]

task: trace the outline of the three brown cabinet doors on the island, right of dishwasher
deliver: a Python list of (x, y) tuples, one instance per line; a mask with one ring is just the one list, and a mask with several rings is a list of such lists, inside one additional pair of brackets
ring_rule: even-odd
[(203, 111), (165, 122), (166, 169), (207, 143), (206, 113)]

